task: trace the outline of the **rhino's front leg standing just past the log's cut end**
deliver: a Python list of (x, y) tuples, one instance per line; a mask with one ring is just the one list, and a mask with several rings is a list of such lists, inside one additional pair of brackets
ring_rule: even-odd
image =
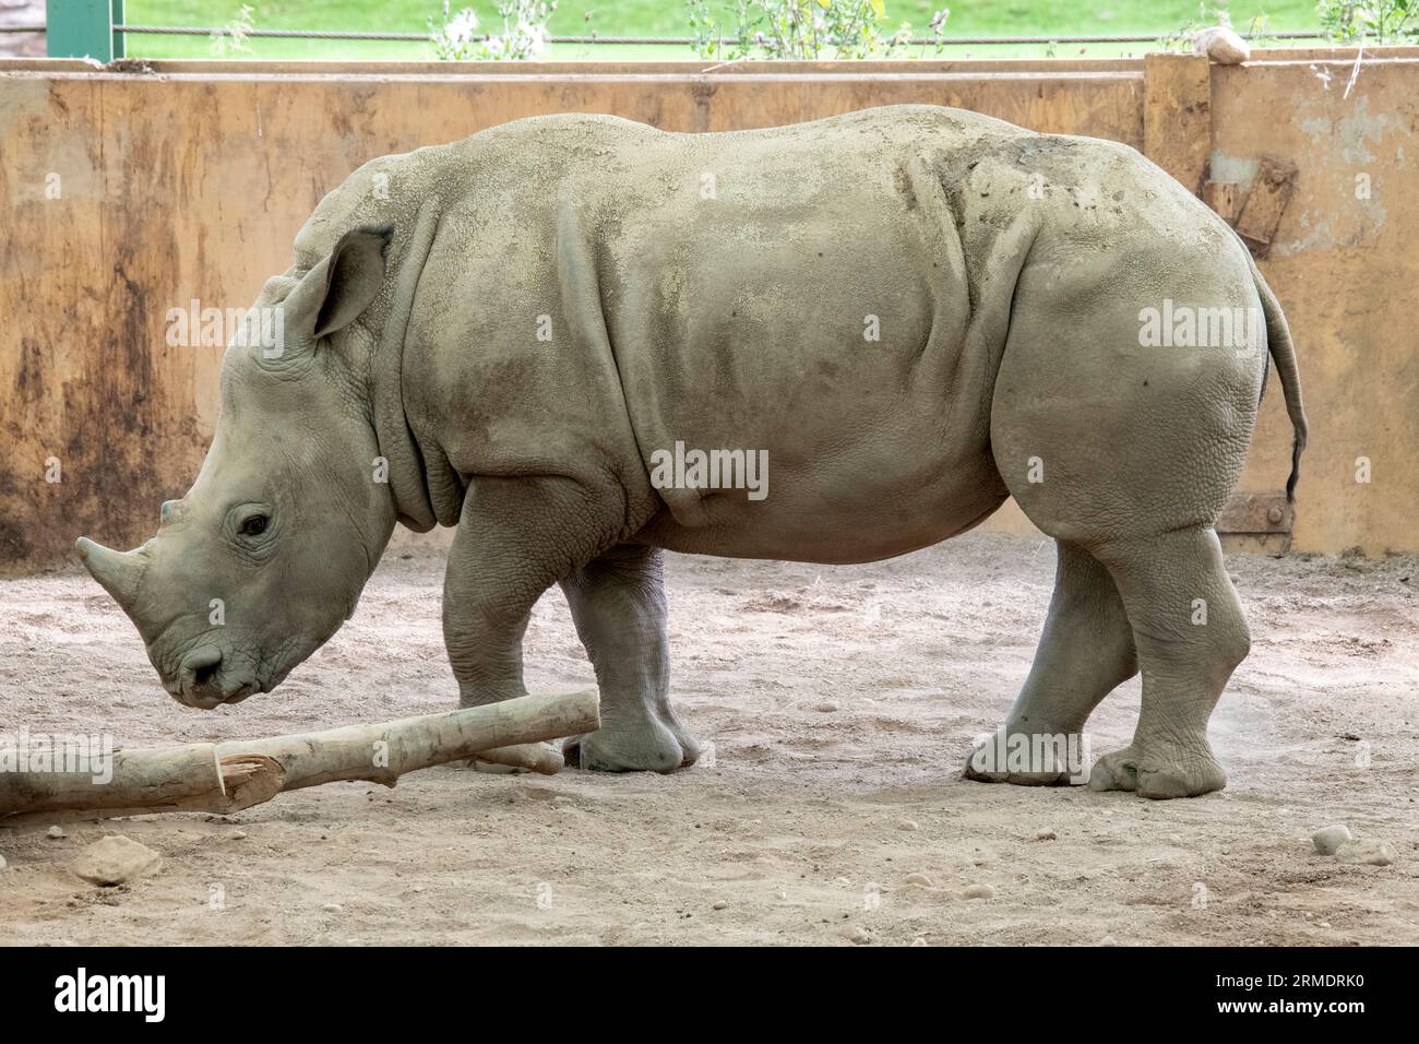
[(670, 641), (660, 548), (620, 544), (562, 581), (596, 669), (602, 727), (568, 741), (568, 761), (602, 771), (668, 773), (700, 744), (670, 706)]

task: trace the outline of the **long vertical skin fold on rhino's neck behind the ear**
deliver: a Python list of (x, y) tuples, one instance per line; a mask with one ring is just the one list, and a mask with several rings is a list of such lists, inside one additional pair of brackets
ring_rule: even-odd
[(380, 456), (389, 462), (389, 489), (394, 497), (394, 513), (399, 521), (416, 533), (431, 530), (437, 518), (429, 496), (424, 457), (404, 413), (404, 335), (414, 307), (414, 291), (419, 288), (419, 277), (429, 259), (437, 226), (434, 206), (426, 203), (419, 210), (419, 222), (394, 277), (393, 303), (370, 366), (375, 437), (379, 440)]

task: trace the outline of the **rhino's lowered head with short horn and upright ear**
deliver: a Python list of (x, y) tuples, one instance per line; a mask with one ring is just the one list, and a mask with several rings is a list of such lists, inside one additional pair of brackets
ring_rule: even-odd
[(187, 496), (133, 551), (77, 543), (180, 703), (278, 685), (350, 616), (389, 541), (368, 395), (377, 330), (355, 322), (380, 293), (389, 240), (359, 229), (270, 280), (223, 355), (217, 430)]

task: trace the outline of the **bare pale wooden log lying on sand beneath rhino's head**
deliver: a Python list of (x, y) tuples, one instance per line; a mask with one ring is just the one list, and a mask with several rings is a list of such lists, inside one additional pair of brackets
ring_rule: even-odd
[(301, 736), (116, 750), (106, 770), (0, 773), (0, 822), (38, 818), (234, 812), (341, 780), (393, 787), (404, 773), (478, 756), (541, 773), (561, 768), (542, 740), (600, 726), (595, 690), (352, 724)]

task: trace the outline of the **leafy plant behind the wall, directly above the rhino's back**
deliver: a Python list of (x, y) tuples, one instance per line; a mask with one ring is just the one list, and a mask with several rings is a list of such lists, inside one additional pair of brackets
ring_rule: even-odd
[[(685, 0), (695, 54), (701, 58), (885, 58), (912, 38), (908, 23), (887, 31), (885, 0), (735, 0), (718, 18), (708, 0)], [(949, 10), (929, 24), (937, 53), (945, 45)]]

